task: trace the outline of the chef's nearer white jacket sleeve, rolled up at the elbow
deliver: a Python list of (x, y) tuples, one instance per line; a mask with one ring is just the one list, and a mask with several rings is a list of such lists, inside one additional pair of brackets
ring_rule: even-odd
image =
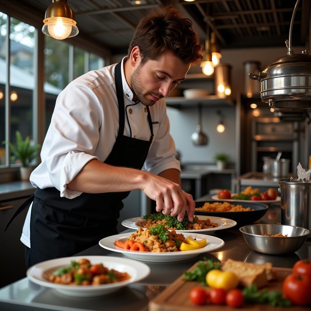
[(72, 199), (81, 194), (67, 189), (67, 184), (87, 162), (98, 159), (94, 152), (101, 122), (101, 105), (87, 86), (68, 86), (58, 96), (51, 120), (46, 165), (50, 180), (61, 197)]

